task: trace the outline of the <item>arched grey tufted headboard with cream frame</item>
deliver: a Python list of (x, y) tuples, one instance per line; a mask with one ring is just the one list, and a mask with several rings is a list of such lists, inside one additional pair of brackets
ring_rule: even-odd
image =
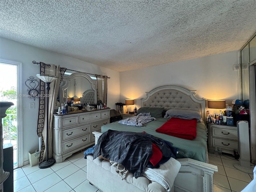
[(146, 98), (141, 98), (142, 107), (164, 107), (169, 109), (194, 110), (201, 113), (206, 121), (206, 100), (196, 98), (196, 90), (189, 90), (182, 86), (166, 85), (146, 92)]

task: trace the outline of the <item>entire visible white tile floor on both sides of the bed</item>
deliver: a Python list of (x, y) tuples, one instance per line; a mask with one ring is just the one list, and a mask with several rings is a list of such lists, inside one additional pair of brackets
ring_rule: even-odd
[[(214, 192), (240, 192), (253, 179), (233, 166), (233, 156), (209, 154), (209, 163), (218, 166), (214, 173)], [(83, 152), (73, 154), (50, 168), (24, 166), (14, 170), (14, 192), (100, 192), (87, 180)]]

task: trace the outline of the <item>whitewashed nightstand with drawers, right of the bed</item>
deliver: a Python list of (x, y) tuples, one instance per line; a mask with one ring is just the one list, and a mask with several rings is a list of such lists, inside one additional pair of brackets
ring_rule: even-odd
[(238, 150), (238, 136), (236, 126), (207, 123), (208, 126), (208, 151), (214, 153), (214, 148), (222, 152), (234, 154)]

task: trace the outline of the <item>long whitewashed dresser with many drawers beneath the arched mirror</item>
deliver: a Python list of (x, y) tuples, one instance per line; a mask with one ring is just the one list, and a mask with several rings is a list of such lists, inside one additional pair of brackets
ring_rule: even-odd
[(93, 131), (101, 132), (101, 126), (108, 124), (110, 108), (78, 112), (73, 114), (54, 114), (53, 158), (63, 162), (73, 153), (94, 144)]

